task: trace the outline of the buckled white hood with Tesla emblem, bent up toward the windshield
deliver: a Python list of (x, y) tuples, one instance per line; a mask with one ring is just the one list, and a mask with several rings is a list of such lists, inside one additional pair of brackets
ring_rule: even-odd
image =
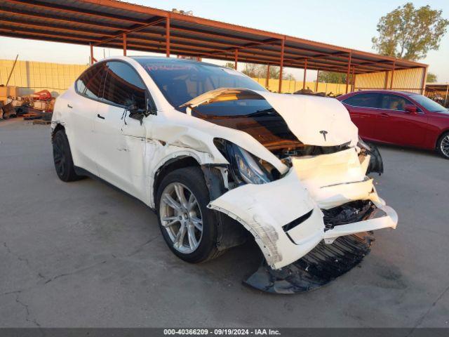
[(286, 121), (290, 131), (306, 145), (335, 146), (358, 141), (357, 127), (342, 103), (334, 98), (220, 88), (203, 93), (181, 105), (198, 107), (225, 100), (267, 100)]

